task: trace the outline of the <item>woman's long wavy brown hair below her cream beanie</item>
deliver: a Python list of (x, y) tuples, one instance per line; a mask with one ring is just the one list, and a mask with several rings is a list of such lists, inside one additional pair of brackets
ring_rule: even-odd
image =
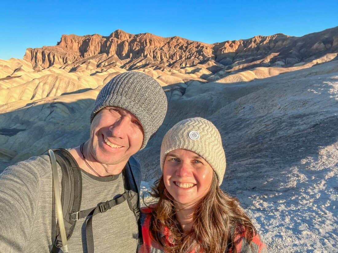
[[(211, 188), (194, 208), (193, 226), (184, 232), (176, 218), (174, 199), (166, 190), (163, 176), (155, 182), (151, 195), (159, 198), (152, 208), (150, 231), (155, 241), (164, 247), (165, 252), (187, 253), (224, 253), (231, 250), (236, 253), (236, 235), (245, 231), (245, 238), (250, 243), (257, 231), (237, 198), (230, 197), (218, 186), (214, 173)], [(164, 227), (172, 235), (173, 244), (167, 244), (160, 236)], [(235, 229), (236, 228), (236, 229)]]

